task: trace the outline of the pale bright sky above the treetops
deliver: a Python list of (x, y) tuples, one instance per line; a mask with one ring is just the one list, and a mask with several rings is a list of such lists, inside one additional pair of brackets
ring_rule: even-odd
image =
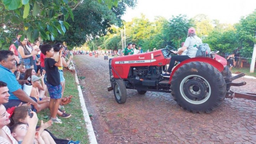
[(198, 14), (207, 15), (210, 20), (220, 23), (238, 23), (241, 16), (247, 16), (256, 9), (256, 0), (137, 0), (134, 9), (127, 8), (122, 19), (132, 21), (143, 13), (150, 21), (155, 16), (169, 20), (172, 15), (187, 15), (192, 18)]

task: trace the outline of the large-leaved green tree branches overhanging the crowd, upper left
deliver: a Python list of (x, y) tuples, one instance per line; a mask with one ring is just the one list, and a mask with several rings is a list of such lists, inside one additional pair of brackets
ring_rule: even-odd
[[(98, 0), (109, 9), (118, 5), (118, 0)], [(1, 0), (1, 36), (0, 46), (10, 45), (14, 31), (20, 31), (21, 39), (25, 35), (31, 42), (41, 37), (54, 41), (59, 34), (64, 35), (69, 29), (66, 20), (74, 20), (72, 10), (84, 4), (84, 0)], [(2, 46), (4, 45), (4, 46)]]

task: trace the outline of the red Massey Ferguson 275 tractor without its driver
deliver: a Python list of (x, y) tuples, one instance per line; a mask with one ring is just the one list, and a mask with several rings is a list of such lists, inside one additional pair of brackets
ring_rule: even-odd
[(167, 92), (184, 110), (210, 113), (232, 94), (230, 86), (246, 84), (232, 82), (244, 74), (232, 77), (226, 59), (217, 55), (218, 51), (181, 62), (166, 79), (161, 74), (163, 66), (170, 63), (171, 50), (176, 49), (167, 46), (154, 52), (110, 59), (108, 91), (114, 91), (120, 104), (126, 102), (126, 89), (135, 89), (141, 95), (146, 91)]

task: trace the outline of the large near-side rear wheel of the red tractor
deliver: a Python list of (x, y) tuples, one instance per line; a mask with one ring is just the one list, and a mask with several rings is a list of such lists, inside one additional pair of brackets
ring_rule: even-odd
[(184, 110), (210, 113), (222, 104), (226, 83), (222, 74), (208, 63), (191, 62), (175, 71), (171, 95)]

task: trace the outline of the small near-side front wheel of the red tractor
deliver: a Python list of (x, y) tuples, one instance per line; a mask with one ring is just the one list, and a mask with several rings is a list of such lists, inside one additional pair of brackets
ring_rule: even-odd
[(124, 85), (124, 81), (115, 80), (113, 90), (116, 101), (120, 104), (125, 103), (127, 98), (127, 91), (126, 86)]

